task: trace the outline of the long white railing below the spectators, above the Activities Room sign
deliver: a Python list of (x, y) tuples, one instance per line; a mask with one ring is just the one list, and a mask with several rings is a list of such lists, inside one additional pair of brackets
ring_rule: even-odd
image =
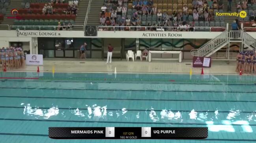
[[(156, 26), (98, 26), (98, 31), (212, 31), (220, 29), (225, 31), (226, 27), (156, 27)], [(213, 31), (212, 31), (213, 32)]]

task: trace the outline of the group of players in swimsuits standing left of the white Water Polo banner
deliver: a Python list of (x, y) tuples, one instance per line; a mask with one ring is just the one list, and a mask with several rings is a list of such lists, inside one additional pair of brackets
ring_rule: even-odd
[(21, 68), (25, 66), (25, 56), (21, 47), (2, 48), (0, 50), (0, 63), (2, 69)]

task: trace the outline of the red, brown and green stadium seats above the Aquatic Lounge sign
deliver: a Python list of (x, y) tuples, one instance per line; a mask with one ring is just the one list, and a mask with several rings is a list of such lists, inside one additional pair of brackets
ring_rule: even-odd
[[(25, 8), (26, 3), (30, 2), (29, 8)], [(18, 9), (19, 14), (17, 15), (21, 20), (15, 20), (12, 29), (19, 28), (19, 26), (26, 26), (27, 30), (38, 30), (39, 27), (36, 25), (41, 25), (40, 29), (45, 30), (54, 30), (54, 27), (57, 26), (58, 22), (65, 22), (66, 24), (70, 22), (72, 25), (75, 24), (75, 14), (65, 14), (64, 11), (67, 9), (69, 3), (58, 3), (53, 4), (53, 13), (52, 14), (43, 14), (42, 9), (45, 3), (49, 2), (48, 0), (24, 0), (22, 2), (23, 8)], [(48, 26), (48, 27), (47, 27)], [(56, 28), (55, 28), (56, 29)]]

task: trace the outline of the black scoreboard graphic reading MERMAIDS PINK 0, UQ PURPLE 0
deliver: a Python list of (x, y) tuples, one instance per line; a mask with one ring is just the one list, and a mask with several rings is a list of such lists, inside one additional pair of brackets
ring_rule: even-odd
[(49, 127), (52, 139), (205, 139), (207, 127)]

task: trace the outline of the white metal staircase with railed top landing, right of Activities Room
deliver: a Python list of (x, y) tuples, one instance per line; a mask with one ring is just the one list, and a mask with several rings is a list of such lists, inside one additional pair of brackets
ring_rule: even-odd
[(243, 31), (224, 31), (219, 34), (219, 36), (213, 38), (199, 49), (191, 50), (191, 55), (208, 57), (220, 50), (222, 47), (226, 46), (227, 44), (229, 45), (229, 51), (230, 42), (241, 42), (241, 51), (243, 51), (244, 45), (252, 50), (256, 48), (256, 40), (249, 34)]

